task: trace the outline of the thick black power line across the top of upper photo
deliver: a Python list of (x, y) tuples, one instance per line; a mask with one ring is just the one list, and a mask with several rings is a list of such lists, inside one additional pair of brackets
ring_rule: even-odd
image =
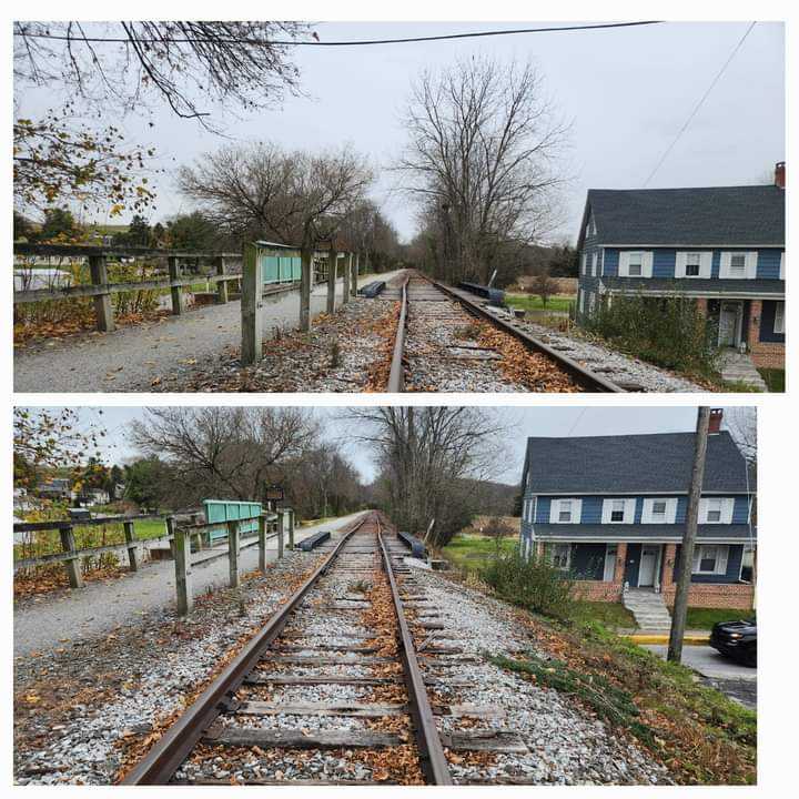
[(496, 37), (496, 36), (515, 36), (518, 33), (557, 33), (566, 31), (591, 31), (607, 30), (610, 28), (637, 28), (641, 26), (663, 24), (663, 20), (647, 20), (641, 22), (608, 22), (595, 26), (560, 26), (553, 28), (516, 28), (513, 30), (490, 30), (475, 31), (473, 33), (445, 33), (442, 36), (428, 37), (405, 37), (402, 39), (356, 39), (353, 41), (294, 41), (285, 39), (225, 39), (225, 38), (149, 38), (139, 39), (134, 37), (84, 37), (84, 36), (62, 36), (57, 33), (29, 33), (26, 31), (14, 31), (17, 37), (27, 37), (29, 39), (55, 39), (59, 41), (70, 42), (111, 42), (118, 44), (127, 44), (135, 42), (138, 44), (202, 44), (212, 40), (220, 44), (251, 44), (260, 47), (286, 45), (286, 47), (363, 47), (371, 44), (407, 44), (412, 42), (424, 41), (445, 41), (451, 39), (476, 39), (478, 37)]

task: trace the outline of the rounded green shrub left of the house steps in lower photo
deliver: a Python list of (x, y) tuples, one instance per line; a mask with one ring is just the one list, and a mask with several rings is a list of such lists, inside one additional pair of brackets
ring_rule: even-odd
[(481, 578), (506, 601), (557, 619), (572, 614), (573, 580), (545, 558), (524, 558), (518, 550), (499, 554), (481, 569)]

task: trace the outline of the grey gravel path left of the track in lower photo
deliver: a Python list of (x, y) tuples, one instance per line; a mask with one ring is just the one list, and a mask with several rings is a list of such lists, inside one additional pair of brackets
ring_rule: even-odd
[[(313, 527), (297, 527), (294, 539), (300, 542), (320, 529), (340, 529), (358, 515)], [(269, 559), (275, 560), (276, 539), (269, 539), (266, 544)], [(257, 546), (241, 554), (242, 572), (254, 568), (257, 568)], [(226, 585), (227, 558), (196, 567), (192, 578), (195, 597), (211, 586)], [(149, 611), (172, 609), (174, 604), (174, 564), (171, 560), (149, 563), (140, 572), (119, 579), (87, 583), (79, 590), (31, 597), (14, 608), (14, 656), (72, 646), (74, 641), (104, 635)]]

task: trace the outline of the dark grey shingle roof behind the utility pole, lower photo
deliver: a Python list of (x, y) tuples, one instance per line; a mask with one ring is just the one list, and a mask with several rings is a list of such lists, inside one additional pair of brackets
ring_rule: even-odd
[[(530, 437), (525, 475), (535, 494), (687, 494), (694, 439), (694, 433)], [(727, 431), (708, 437), (702, 490), (747, 490), (746, 461)]]

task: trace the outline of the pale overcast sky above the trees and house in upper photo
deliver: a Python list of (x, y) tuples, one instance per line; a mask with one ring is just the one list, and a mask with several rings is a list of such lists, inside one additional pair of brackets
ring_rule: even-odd
[[(532, 22), (330, 22), (323, 40), (425, 36), (530, 27)], [(546, 22), (546, 26), (557, 24)], [(523, 34), (494, 39), (377, 45), (299, 48), (295, 61), (309, 97), (235, 124), (239, 140), (274, 140), (318, 149), (351, 142), (376, 166), (387, 165), (405, 140), (402, 109), (424, 68), (457, 57), (532, 59), (564, 120), (573, 123), (562, 237), (576, 239), (588, 188), (640, 188), (691, 109), (744, 34), (747, 22), (681, 23), (597, 32)], [(781, 23), (758, 23), (650, 186), (760, 183), (785, 159), (785, 53)], [(59, 91), (26, 89), (17, 111), (37, 115), (62, 101)], [(149, 118), (148, 118), (149, 119)], [(122, 121), (132, 141), (155, 144), (166, 174), (156, 179), (155, 219), (191, 210), (171, 173), (223, 143), (192, 121), (159, 108), (148, 120)], [(118, 120), (107, 120), (107, 122)], [(374, 199), (401, 235), (414, 232), (413, 209), (383, 175)], [(98, 218), (97, 221), (107, 221)], [(125, 220), (127, 221), (127, 220)]]

